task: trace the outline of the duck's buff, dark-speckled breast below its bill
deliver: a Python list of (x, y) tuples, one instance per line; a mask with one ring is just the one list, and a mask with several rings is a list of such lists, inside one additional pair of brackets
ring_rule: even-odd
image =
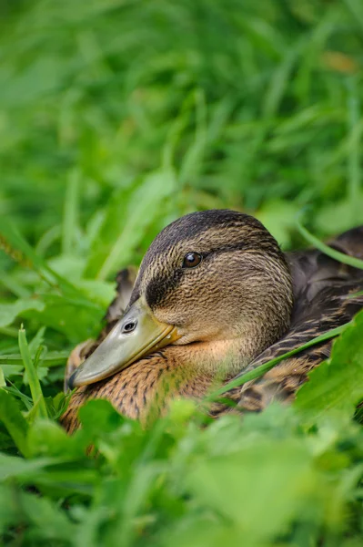
[(62, 417), (64, 427), (69, 432), (79, 427), (78, 408), (92, 398), (106, 398), (121, 414), (142, 421), (150, 414), (162, 414), (170, 400), (177, 397), (201, 399), (217, 375), (208, 370), (202, 348), (192, 346), (198, 345), (168, 346), (113, 377), (79, 387)]

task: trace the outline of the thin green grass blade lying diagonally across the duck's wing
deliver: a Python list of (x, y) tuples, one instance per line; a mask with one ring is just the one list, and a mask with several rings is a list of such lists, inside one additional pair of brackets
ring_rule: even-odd
[(287, 359), (287, 357), (295, 356), (300, 351), (304, 351), (305, 349), (308, 349), (308, 347), (316, 346), (317, 344), (320, 344), (320, 342), (324, 342), (325, 340), (329, 340), (330, 338), (335, 338), (336, 336), (340, 335), (347, 326), (350, 325), (349, 323), (346, 323), (345, 325), (337, 326), (336, 328), (333, 328), (328, 331), (328, 333), (324, 333), (324, 335), (316, 336), (315, 338), (312, 338), (309, 340), (306, 344), (303, 344), (302, 346), (296, 347), (292, 349), (291, 351), (287, 351), (286, 354), (282, 356), (275, 357), (274, 359), (271, 359), (267, 363), (264, 363), (261, 366), (257, 366), (253, 370), (249, 370), (247, 373), (242, 374), (239, 377), (234, 378), (230, 382), (226, 384), (226, 386), (219, 387), (216, 391), (211, 393), (208, 397), (206, 397), (205, 400), (210, 401), (214, 400), (216, 397), (219, 397), (229, 391), (229, 389), (233, 389), (234, 387), (242, 386), (243, 384), (246, 384), (247, 382), (251, 380), (255, 380), (258, 377), (263, 376), (268, 370), (276, 366), (280, 361), (283, 359)]

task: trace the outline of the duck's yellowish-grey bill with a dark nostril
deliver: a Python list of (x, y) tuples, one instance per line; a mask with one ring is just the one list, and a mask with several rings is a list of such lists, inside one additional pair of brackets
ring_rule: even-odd
[(143, 297), (116, 323), (94, 353), (69, 378), (71, 387), (94, 384), (113, 376), (143, 356), (175, 342), (174, 325), (157, 321)]

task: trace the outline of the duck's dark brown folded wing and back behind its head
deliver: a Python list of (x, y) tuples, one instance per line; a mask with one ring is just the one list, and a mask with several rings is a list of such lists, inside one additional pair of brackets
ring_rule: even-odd
[[(342, 253), (363, 258), (363, 226), (329, 243)], [(257, 368), (277, 356), (344, 325), (363, 307), (363, 271), (338, 263), (318, 251), (291, 253), (295, 307), (287, 335), (270, 346), (243, 371)], [(281, 361), (263, 377), (228, 392), (238, 406), (261, 410), (272, 400), (288, 401), (308, 379), (308, 372), (330, 355), (331, 340)], [(240, 376), (240, 375), (239, 375)]]

